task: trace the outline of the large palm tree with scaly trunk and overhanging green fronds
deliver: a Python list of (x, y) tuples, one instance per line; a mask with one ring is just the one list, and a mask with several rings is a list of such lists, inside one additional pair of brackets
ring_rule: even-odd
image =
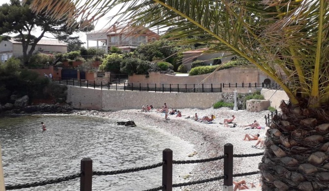
[(70, 12), (93, 20), (116, 7), (121, 22), (171, 27), (172, 40), (210, 44), (209, 52), (230, 51), (248, 60), (290, 98), (267, 131), (259, 165), (263, 190), (328, 189), (328, 0), (78, 0), (74, 10), (53, 1), (34, 0), (33, 8), (54, 19)]

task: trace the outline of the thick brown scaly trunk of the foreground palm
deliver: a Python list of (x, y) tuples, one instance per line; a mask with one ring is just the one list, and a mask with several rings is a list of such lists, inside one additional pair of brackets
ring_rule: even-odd
[(282, 101), (267, 131), (259, 169), (264, 191), (329, 190), (329, 110)]

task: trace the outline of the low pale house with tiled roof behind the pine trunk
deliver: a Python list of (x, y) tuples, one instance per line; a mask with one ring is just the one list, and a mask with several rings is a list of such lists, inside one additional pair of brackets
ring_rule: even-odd
[[(29, 51), (31, 46), (28, 46)], [(40, 40), (35, 46), (34, 52), (42, 53), (65, 53), (67, 51), (67, 45), (58, 40)], [(0, 60), (6, 61), (10, 57), (23, 56), (23, 46), (21, 42), (14, 40), (1, 41), (0, 42)]]

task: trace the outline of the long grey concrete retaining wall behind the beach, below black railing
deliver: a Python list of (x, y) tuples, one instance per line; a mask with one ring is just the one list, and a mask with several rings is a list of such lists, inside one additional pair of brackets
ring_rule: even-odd
[(68, 86), (67, 102), (74, 108), (97, 110), (139, 109), (152, 104), (160, 108), (167, 103), (174, 108), (210, 108), (222, 98), (221, 93), (155, 93), (98, 90)]

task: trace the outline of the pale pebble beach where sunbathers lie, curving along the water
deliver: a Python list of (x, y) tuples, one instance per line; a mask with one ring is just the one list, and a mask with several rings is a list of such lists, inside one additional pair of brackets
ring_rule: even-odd
[[(169, 105), (170, 106), (170, 105)], [(151, 125), (157, 128), (161, 128), (166, 132), (169, 132), (173, 136), (176, 136), (184, 141), (194, 144), (194, 149), (197, 152), (196, 155), (191, 157), (194, 159), (205, 159), (210, 157), (216, 157), (223, 155), (223, 149), (225, 143), (232, 143), (234, 146), (234, 154), (251, 154), (263, 152), (263, 149), (251, 147), (256, 141), (243, 141), (246, 133), (257, 134), (261, 137), (265, 137), (266, 129), (247, 129), (246, 127), (240, 127), (241, 125), (247, 125), (256, 119), (261, 126), (265, 126), (264, 116), (269, 111), (262, 111), (259, 113), (247, 112), (246, 110), (233, 111), (228, 108), (220, 109), (191, 109), (184, 108), (178, 109), (182, 111), (182, 117), (176, 118), (176, 116), (170, 116), (169, 120), (164, 119), (164, 114), (157, 112), (140, 112), (139, 110), (121, 110), (116, 112), (100, 112), (100, 111), (75, 111), (76, 115), (90, 115), (107, 117), (115, 120), (134, 120), (137, 125)], [(210, 116), (214, 114), (217, 118), (214, 123), (201, 123), (192, 119), (185, 119), (187, 116), (194, 116), (197, 113), (199, 117)], [(238, 127), (229, 128), (219, 124), (224, 119), (231, 118), (235, 115), (234, 122), (238, 124)], [(175, 160), (175, 156), (174, 160)], [(261, 162), (262, 156), (247, 157), (247, 158), (234, 158), (233, 174), (258, 171), (258, 163)], [(220, 176), (223, 174), (223, 160), (207, 163), (199, 163), (190, 172), (188, 181), (201, 180), (211, 177)], [(261, 190), (258, 187), (260, 175), (249, 175), (245, 177), (236, 177), (233, 180), (239, 181), (245, 179), (247, 185), (254, 183), (257, 188), (250, 190)], [(183, 180), (182, 182), (186, 182)], [(176, 191), (221, 191), (222, 181), (213, 181), (210, 183), (192, 185), (187, 187), (181, 187)]]

